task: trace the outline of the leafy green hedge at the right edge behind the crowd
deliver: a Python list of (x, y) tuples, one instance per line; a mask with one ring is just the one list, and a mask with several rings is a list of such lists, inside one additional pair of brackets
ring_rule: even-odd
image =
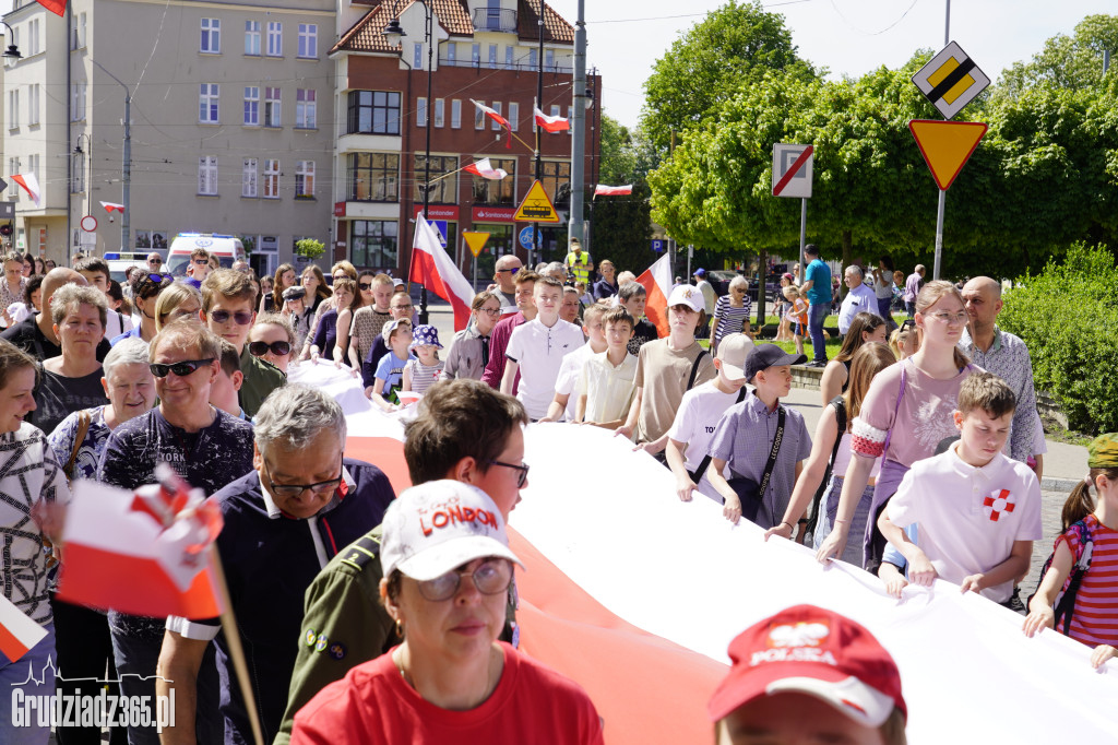
[(998, 326), (1029, 346), (1038, 390), (1072, 430), (1118, 432), (1118, 268), (1106, 246), (1076, 244), (1062, 261), (1017, 280)]

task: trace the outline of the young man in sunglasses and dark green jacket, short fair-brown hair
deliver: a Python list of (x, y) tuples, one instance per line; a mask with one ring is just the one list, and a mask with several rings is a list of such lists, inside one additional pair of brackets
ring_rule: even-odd
[(220, 268), (202, 282), (202, 309), (199, 317), (210, 331), (237, 348), (240, 371), (245, 383), (240, 386), (240, 407), (249, 418), (256, 416), (268, 394), (287, 381), (274, 365), (254, 357), (245, 343), (256, 320), (256, 285), (244, 272)]

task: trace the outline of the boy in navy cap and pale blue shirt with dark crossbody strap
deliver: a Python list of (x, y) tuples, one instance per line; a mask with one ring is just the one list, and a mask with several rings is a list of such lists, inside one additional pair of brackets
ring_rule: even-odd
[[(787, 510), (803, 461), (812, 452), (812, 438), (804, 415), (780, 406), (780, 398), (792, 390), (792, 366), (805, 361), (803, 355), (788, 355), (776, 345), (754, 347), (743, 374), (755, 390), (731, 406), (714, 428), (707, 475), (722, 497), (722, 515), (735, 525), (745, 516), (767, 530)], [(777, 440), (780, 430), (784, 433)], [(768, 471), (774, 443), (776, 462)], [(722, 475), (727, 466), (736, 477), (733, 483)]]

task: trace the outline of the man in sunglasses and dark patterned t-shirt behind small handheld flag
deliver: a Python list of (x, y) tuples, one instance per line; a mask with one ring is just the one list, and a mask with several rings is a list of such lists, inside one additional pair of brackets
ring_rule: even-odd
[[(253, 469), (253, 426), (209, 404), (221, 341), (199, 323), (172, 323), (151, 342), (151, 371), (159, 406), (113, 431), (97, 466), (97, 480), (134, 490), (155, 483), (155, 466), (170, 463), (191, 487), (210, 496)], [(121, 690), (153, 696), (164, 619), (110, 611)], [(217, 669), (205, 668), (199, 711), (216, 711)], [(148, 699), (151, 700), (151, 699)], [(203, 716), (200, 742), (220, 741), (220, 718)], [(129, 728), (130, 743), (158, 743), (153, 726)]]

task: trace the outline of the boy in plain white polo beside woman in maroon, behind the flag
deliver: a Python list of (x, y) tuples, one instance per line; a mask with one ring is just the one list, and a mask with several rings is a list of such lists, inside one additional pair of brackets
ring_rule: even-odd
[(520, 388), (517, 398), (524, 405), (529, 418), (547, 416), (548, 404), (555, 397), (556, 380), (562, 358), (579, 349), (582, 330), (559, 318), (562, 283), (553, 277), (540, 277), (532, 290), (536, 318), (518, 326), (504, 350), (508, 359), (501, 378), (501, 393), (512, 395), (517, 372)]

